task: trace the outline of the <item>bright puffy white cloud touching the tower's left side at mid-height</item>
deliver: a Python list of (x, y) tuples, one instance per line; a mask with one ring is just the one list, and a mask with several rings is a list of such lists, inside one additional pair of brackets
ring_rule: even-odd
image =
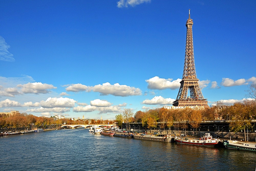
[(147, 88), (148, 89), (157, 89), (157, 90), (163, 90), (163, 89), (178, 89), (180, 87), (180, 81), (181, 79), (177, 79), (172, 81), (173, 79), (168, 78), (168, 79), (164, 79), (164, 78), (159, 78), (157, 76), (149, 79), (149, 80), (145, 80), (148, 83)]

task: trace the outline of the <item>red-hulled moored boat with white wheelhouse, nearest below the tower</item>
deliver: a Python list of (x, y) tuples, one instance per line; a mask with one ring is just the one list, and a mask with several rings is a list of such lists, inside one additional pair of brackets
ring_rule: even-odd
[(175, 142), (179, 144), (214, 146), (214, 147), (217, 147), (221, 144), (221, 141), (219, 139), (212, 138), (210, 133), (205, 133), (205, 136), (202, 136), (200, 139), (175, 137)]

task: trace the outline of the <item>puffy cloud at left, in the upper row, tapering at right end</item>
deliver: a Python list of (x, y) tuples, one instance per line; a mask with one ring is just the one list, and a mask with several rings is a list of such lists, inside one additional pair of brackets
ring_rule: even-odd
[(21, 88), (23, 93), (32, 93), (32, 94), (46, 94), (49, 92), (48, 89), (56, 89), (51, 84), (43, 84), (41, 82), (27, 83), (27, 84), (18, 84), (17, 87)]

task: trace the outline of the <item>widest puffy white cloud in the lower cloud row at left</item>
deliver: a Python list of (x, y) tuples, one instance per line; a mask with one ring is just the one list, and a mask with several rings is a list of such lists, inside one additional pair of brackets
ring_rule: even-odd
[(69, 98), (48, 98), (46, 101), (41, 101), (40, 104), (43, 108), (72, 108), (76, 101)]

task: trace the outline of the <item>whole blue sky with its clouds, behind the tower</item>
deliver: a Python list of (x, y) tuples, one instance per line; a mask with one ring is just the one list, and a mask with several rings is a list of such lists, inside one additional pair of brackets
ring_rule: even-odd
[(0, 2), (0, 111), (114, 119), (172, 105), (188, 9), (209, 106), (256, 84), (256, 1)]

